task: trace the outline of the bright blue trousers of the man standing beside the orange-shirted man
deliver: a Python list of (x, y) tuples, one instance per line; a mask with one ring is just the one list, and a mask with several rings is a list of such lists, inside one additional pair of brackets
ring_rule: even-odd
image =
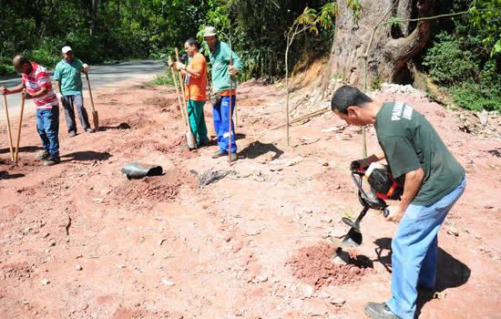
[[(231, 118), (235, 110), (236, 98), (231, 96)], [(220, 151), (227, 153), (229, 148), (228, 138), (230, 137), (230, 97), (222, 97), (220, 105), (212, 105), (212, 119), (214, 120), (214, 129), (218, 136), (218, 145)], [(237, 144), (235, 143), (235, 128), (231, 119), (231, 153), (237, 152)]]

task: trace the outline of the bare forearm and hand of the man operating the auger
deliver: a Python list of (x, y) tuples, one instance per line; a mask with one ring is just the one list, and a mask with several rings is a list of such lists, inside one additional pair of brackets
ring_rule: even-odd
[(402, 216), (404, 216), (405, 210), (414, 200), (415, 195), (421, 188), (421, 184), (424, 179), (424, 170), (419, 168), (417, 170), (412, 170), (405, 173), (405, 184), (404, 184), (404, 194), (398, 205), (388, 206), (388, 211), (390, 211), (386, 221), (400, 221)]

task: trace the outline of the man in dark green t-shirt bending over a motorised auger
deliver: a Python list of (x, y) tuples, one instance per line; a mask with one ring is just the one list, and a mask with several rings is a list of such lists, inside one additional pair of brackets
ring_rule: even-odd
[(373, 124), (382, 154), (358, 160), (367, 168), (385, 159), (397, 180), (404, 180), (402, 200), (387, 221), (400, 221), (392, 241), (392, 298), (365, 304), (372, 318), (414, 318), (417, 289), (435, 288), (437, 233), (465, 190), (465, 169), (445, 147), (431, 124), (402, 102), (373, 101), (356, 87), (340, 87), (332, 111), (350, 125)]

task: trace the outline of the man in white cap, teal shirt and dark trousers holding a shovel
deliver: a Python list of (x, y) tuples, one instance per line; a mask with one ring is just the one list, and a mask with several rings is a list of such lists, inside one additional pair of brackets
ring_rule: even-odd
[(62, 56), (63, 59), (57, 63), (54, 71), (56, 90), (58, 90), (56, 95), (63, 102), (67, 130), (69, 137), (73, 138), (77, 135), (73, 104), (77, 107), (77, 115), (84, 130), (88, 133), (94, 131), (88, 123), (87, 110), (84, 108), (84, 98), (82, 97), (81, 75), (82, 72), (87, 73), (88, 66), (82, 63), (80, 59), (73, 57), (73, 50), (69, 46), (63, 46)]

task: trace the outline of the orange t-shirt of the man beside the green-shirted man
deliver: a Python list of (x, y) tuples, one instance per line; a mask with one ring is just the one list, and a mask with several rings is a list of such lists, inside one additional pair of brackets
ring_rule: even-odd
[(188, 63), (191, 69), (197, 70), (200, 76), (195, 77), (187, 72), (187, 86), (185, 90), (186, 99), (194, 101), (205, 101), (207, 99), (205, 87), (207, 86), (207, 62), (205, 57), (197, 52)]

